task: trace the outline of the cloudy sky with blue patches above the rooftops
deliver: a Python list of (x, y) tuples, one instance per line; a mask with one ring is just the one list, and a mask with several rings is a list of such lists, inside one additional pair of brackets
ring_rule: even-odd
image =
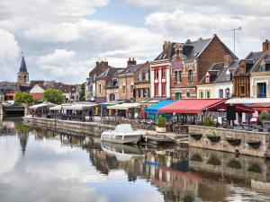
[(82, 83), (98, 59), (152, 60), (164, 40), (214, 33), (245, 57), (269, 38), (265, 0), (1, 0), (0, 80), (15, 80), (22, 51), (32, 80)]

